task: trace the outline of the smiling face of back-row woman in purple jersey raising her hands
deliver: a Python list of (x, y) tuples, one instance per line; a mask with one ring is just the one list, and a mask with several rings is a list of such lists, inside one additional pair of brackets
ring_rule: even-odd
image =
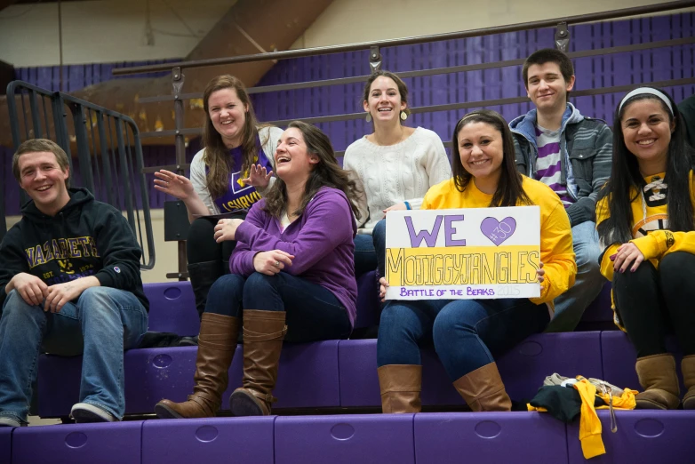
[(248, 106), (244, 105), (233, 88), (221, 89), (210, 94), (208, 116), (227, 148), (241, 145), (248, 110)]

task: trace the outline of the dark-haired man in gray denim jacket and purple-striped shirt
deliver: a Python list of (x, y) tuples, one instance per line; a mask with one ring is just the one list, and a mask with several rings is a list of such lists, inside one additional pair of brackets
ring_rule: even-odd
[(522, 75), (536, 108), (509, 124), (516, 167), (560, 196), (570, 217), (577, 261), (574, 286), (555, 299), (547, 332), (572, 331), (605, 282), (598, 267), (595, 202), (611, 175), (612, 132), (605, 122), (582, 116), (569, 102), (574, 67), (563, 52), (531, 53)]

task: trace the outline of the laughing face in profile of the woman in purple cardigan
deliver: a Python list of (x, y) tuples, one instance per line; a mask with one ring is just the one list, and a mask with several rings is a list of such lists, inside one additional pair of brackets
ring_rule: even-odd
[(304, 135), (296, 127), (283, 132), (275, 153), (277, 177), (286, 184), (306, 181), (318, 156), (309, 153)]

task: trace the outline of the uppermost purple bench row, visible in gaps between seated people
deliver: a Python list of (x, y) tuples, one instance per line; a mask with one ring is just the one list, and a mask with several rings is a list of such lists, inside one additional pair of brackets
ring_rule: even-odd
[[(150, 331), (197, 335), (200, 322), (190, 283), (145, 284), (144, 288), (150, 302)], [(355, 329), (379, 324), (375, 273), (368, 272), (359, 276), (357, 288)], [(611, 285), (606, 284), (603, 292), (585, 311), (580, 325), (588, 330), (611, 330), (614, 328), (611, 321)]]

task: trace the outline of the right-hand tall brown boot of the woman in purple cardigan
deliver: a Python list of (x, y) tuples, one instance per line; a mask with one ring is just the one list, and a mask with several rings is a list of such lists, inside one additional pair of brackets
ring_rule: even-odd
[(235, 416), (267, 416), (276, 387), (277, 364), (283, 350), (284, 311), (244, 309), (244, 381), (229, 397)]

